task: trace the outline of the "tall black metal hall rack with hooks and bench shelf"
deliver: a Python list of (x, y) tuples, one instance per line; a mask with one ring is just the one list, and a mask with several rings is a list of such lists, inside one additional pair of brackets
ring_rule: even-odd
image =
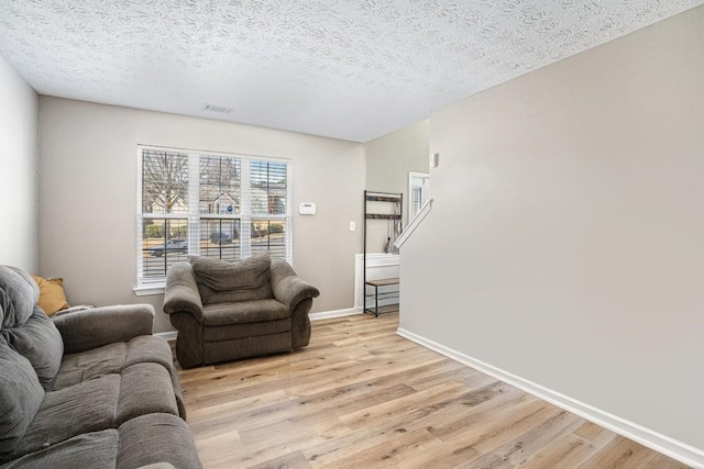
[[(375, 212), (370, 212), (369, 211), (369, 203), (370, 202), (388, 202), (388, 203), (394, 203), (397, 204), (398, 206), (398, 211), (393, 211), (392, 213), (375, 213)], [(403, 193), (395, 193), (395, 192), (375, 192), (375, 191), (369, 191), (365, 190), (364, 191), (364, 255), (363, 255), (363, 288), (364, 288), (364, 294), (363, 294), (363, 301), (364, 301), (364, 312), (365, 313), (372, 313), (374, 314), (374, 316), (378, 317), (378, 313), (381, 312), (391, 312), (391, 311), (398, 311), (398, 309), (388, 309), (388, 308), (382, 308), (380, 310), (378, 306), (378, 300), (380, 299), (385, 299), (385, 298), (391, 298), (393, 295), (398, 297), (398, 289), (395, 291), (384, 291), (382, 293), (380, 293), (378, 289), (380, 288), (384, 288), (384, 287), (389, 287), (389, 286), (398, 286), (398, 278), (387, 278), (387, 279), (376, 279), (376, 280), (366, 280), (366, 223), (367, 220), (391, 220), (394, 223), (398, 223), (400, 225), (402, 221), (404, 219), (404, 194)], [(394, 239), (395, 241), (395, 239)], [(388, 239), (389, 244), (393, 245), (393, 241), (389, 238)], [(371, 287), (374, 289), (373, 293), (367, 293), (367, 287)], [(374, 310), (367, 309), (366, 308), (366, 299), (367, 298), (374, 298)]]

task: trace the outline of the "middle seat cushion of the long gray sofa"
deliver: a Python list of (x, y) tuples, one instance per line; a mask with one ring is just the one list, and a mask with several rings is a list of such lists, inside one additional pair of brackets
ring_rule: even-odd
[(84, 433), (117, 428), (151, 412), (178, 415), (172, 378), (158, 364), (132, 365), (120, 373), (51, 391), (45, 394), (13, 457)]

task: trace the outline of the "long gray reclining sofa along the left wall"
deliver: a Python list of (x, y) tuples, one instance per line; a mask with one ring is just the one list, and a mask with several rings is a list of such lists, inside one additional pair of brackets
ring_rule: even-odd
[(51, 319), (0, 266), (0, 468), (200, 468), (150, 305)]

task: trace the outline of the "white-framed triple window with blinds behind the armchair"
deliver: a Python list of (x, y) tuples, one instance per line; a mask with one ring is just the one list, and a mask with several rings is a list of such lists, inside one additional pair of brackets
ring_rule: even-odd
[(139, 146), (138, 283), (189, 255), (292, 260), (287, 160)]

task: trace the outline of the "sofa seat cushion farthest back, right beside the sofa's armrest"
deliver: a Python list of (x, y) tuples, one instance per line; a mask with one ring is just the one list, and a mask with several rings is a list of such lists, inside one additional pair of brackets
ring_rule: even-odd
[(119, 342), (78, 354), (66, 354), (53, 390), (78, 384), (110, 373), (119, 373), (139, 362), (155, 362), (172, 371), (173, 354), (168, 343), (160, 337), (142, 335), (130, 342)]

